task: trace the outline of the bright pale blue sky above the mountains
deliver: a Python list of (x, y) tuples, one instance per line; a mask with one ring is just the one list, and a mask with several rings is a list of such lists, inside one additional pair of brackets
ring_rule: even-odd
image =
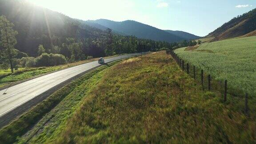
[(160, 29), (206, 36), (256, 0), (28, 0), (81, 20), (135, 20)]

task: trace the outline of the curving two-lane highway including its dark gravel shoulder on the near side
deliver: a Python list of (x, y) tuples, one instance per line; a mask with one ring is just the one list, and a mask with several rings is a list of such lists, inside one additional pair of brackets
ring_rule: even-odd
[[(127, 54), (105, 59), (105, 63), (138, 56), (140, 53)], [(32, 80), (14, 85), (0, 91), (0, 127), (8, 124), (13, 118), (27, 111), (33, 105), (44, 100), (57, 89), (61, 88), (72, 78), (78, 77), (84, 72), (99, 67), (97, 61), (66, 68)], [(51, 91), (51, 92), (50, 92)], [(4, 92), (6, 94), (4, 94)]]

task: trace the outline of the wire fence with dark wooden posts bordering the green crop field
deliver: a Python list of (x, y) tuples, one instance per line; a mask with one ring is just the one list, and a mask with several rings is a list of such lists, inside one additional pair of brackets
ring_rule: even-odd
[[(242, 111), (245, 115), (249, 115), (249, 95), (248, 92), (244, 92), (241, 89), (233, 88), (228, 85), (228, 80), (216, 80), (214, 76), (210, 73), (205, 72), (203, 69), (196, 67), (195, 65), (190, 64), (188, 61), (182, 60), (175, 52), (168, 52), (179, 65), (179, 67), (188, 73), (198, 84), (202, 86), (204, 91), (214, 91), (219, 93), (222, 96), (224, 103), (227, 103), (228, 100), (232, 99), (233, 101), (239, 100), (238, 107), (242, 107)], [(241, 100), (244, 102), (241, 103)]]

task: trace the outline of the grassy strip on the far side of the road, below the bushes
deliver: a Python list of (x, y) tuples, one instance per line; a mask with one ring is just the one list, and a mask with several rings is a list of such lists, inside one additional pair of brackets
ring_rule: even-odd
[[(116, 56), (118, 56), (118, 55), (116, 55)], [(108, 56), (105, 58), (110, 58), (110, 57), (113, 57), (113, 56)], [(82, 60), (82, 61), (78, 61), (78, 62), (74, 62), (74, 63), (68, 63), (68, 64), (58, 65), (58, 66), (53, 66), (53, 67), (19, 68), (18, 70), (14, 71), (13, 74), (10, 69), (7, 69), (7, 70), (0, 69), (0, 88), (6, 86), (8, 84), (11, 84), (12, 82), (26, 80), (29, 78), (33, 78), (35, 76), (39, 76), (39, 75), (46, 74), (49, 72), (73, 67), (73, 66), (80, 65), (80, 64), (85, 64), (85, 63), (96, 61), (96, 60), (98, 60), (98, 58), (94, 58), (94, 59), (90, 59), (90, 60)]]

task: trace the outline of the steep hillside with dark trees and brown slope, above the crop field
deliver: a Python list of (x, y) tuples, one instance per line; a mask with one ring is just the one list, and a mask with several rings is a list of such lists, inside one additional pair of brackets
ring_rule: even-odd
[[(238, 36), (255, 36), (256, 9), (237, 16), (220, 28), (208, 34), (206, 37), (215, 37), (211, 41), (224, 40)], [(252, 33), (251, 33), (252, 32)], [(250, 33), (250, 34), (249, 34)], [(248, 35), (247, 35), (248, 34)]]

